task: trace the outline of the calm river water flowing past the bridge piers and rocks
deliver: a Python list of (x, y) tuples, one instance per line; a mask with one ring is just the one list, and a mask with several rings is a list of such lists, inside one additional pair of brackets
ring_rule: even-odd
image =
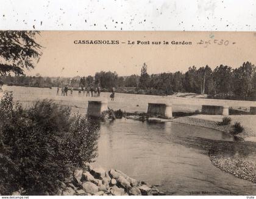
[(213, 166), (208, 152), (215, 147), (255, 158), (255, 146), (216, 130), (121, 119), (101, 124), (96, 164), (157, 184), (168, 195), (255, 195), (255, 183)]

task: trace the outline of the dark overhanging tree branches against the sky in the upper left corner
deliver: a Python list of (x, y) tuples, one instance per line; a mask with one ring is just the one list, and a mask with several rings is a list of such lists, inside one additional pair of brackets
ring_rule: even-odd
[(24, 69), (34, 69), (34, 62), (41, 55), (41, 46), (35, 42), (35, 31), (0, 32), (0, 75), (23, 75)]

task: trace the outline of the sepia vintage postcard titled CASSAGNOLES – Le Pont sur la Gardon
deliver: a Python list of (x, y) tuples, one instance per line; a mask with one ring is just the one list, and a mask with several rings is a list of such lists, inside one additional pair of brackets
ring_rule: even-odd
[(0, 32), (1, 195), (256, 195), (255, 32)]

